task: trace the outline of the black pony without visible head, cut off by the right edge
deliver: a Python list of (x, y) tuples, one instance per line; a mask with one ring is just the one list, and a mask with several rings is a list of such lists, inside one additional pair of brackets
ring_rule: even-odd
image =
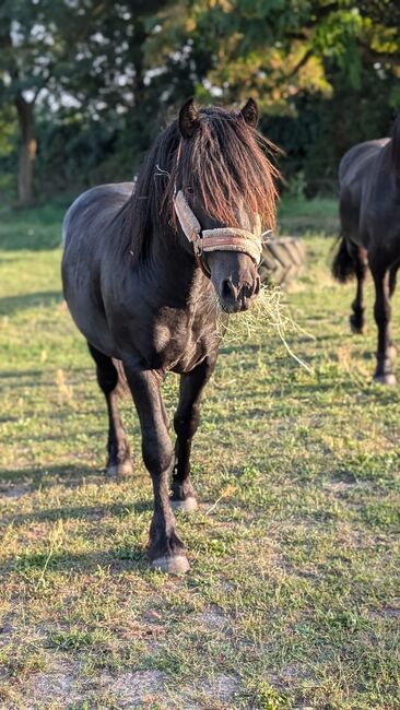
[(338, 281), (354, 274), (356, 297), (350, 323), (353, 332), (365, 327), (364, 282), (369, 265), (375, 284), (378, 327), (376, 382), (395, 384), (391, 368), (390, 299), (400, 265), (400, 113), (392, 137), (354, 145), (339, 167), (342, 240), (332, 265)]

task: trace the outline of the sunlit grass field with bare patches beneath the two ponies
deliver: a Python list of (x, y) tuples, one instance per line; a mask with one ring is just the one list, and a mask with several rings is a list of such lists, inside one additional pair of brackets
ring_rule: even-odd
[[(178, 520), (185, 578), (146, 564), (128, 400), (134, 474), (103, 476), (105, 406), (60, 292), (62, 211), (0, 215), (0, 707), (398, 709), (400, 390), (370, 383), (370, 282), (368, 333), (349, 332), (353, 287), (331, 280), (322, 234), (334, 203), (281, 209), (282, 232), (306, 233), (283, 313), (313, 372), (268, 323), (246, 335), (238, 317), (222, 347), (193, 448), (200, 510)], [(176, 391), (170, 375), (170, 413)]]

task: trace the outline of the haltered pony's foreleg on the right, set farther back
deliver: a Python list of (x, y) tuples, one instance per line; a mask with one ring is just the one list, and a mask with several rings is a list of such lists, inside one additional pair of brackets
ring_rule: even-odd
[(191, 441), (200, 421), (200, 398), (216, 363), (216, 355), (207, 357), (191, 372), (180, 376), (179, 403), (174, 417), (177, 435), (172, 481), (173, 508), (190, 512), (197, 508), (195, 488), (190, 481)]

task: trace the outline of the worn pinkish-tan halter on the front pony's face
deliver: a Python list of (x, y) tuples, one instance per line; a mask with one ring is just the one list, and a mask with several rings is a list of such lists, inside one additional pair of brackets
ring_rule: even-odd
[(174, 208), (183, 232), (192, 244), (196, 261), (205, 276), (210, 279), (211, 272), (201, 258), (204, 251), (242, 251), (247, 253), (257, 267), (259, 265), (262, 253), (259, 215), (256, 215), (257, 234), (236, 227), (202, 229), (197, 216), (189, 208), (183, 190), (175, 194)]

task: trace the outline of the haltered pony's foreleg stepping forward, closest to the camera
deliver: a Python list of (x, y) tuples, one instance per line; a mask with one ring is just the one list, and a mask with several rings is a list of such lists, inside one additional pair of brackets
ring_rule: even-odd
[(152, 567), (177, 575), (189, 569), (185, 546), (175, 529), (169, 502), (169, 473), (174, 450), (161, 399), (161, 377), (134, 362), (123, 362), (125, 372), (139, 414), (144, 464), (152, 477), (154, 514), (150, 528), (149, 558)]

